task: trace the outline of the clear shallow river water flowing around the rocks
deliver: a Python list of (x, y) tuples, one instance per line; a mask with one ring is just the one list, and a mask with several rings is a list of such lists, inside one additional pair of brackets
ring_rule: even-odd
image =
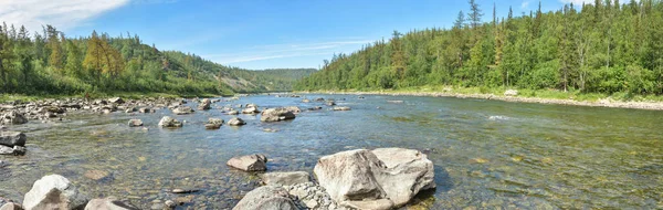
[[(250, 96), (227, 104), (297, 105), (291, 122), (261, 123), (240, 115), (243, 127), (206, 130), (220, 109), (176, 116), (180, 129), (157, 127), (168, 109), (129, 116), (76, 114), (62, 123), (30, 123), (28, 155), (2, 156), (0, 197), (22, 200), (34, 180), (60, 174), (92, 197), (116, 196), (149, 209), (187, 195), (187, 207), (232, 208), (257, 186), (254, 174), (229, 169), (233, 156), (265, 154), (269, 171), (312, 171), (320, 156), (355, 148), (428, 150), (438, 189), (417, 199), (422, 209), (663, 208), (663, 112), (518, 104), (444, 97), (306, 95), (336, 98), (350, 112), (332, 112), (302, 98)], [(339, 101), (346, 98), (346, 101)], [(388, 101), (402, 99), (402, 104)], [(189, 103), (194, 107), (194, 103)], [(379, 108), (378, 108), (379, 107)], [(140, 118), (149, 127), (129, 128)], [(265, 133), (264, 128), (278, 129)], [(87, 170), (104, 170), (95, 181)], [(182, 199), (182, 198), (180, 198)]]

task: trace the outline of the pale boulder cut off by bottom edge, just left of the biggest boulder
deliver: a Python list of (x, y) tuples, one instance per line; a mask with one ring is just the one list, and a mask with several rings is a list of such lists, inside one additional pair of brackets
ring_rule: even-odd
[(277, 186), (263, 186), (246, 193), (233, 210), (298, 210), (298, 208), (287, 190)]

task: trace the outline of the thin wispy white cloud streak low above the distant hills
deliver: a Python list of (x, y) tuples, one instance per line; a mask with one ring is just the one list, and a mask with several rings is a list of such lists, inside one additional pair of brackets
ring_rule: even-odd
[(357, 50), (360, 44), (371, 43), (371, 40), (346, 40), (318, 43), (270, 44), (251, 46), (234, 53), (202, 55), (221, 64), (244, 63), (251, 61), (273, 60), (283, 57), (299, 57), (311, 55), (328, 55)]

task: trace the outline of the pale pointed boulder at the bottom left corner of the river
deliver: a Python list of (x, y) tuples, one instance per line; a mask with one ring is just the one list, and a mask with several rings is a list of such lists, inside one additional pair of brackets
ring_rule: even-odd
[(32, 185), (32, 189), (25, 193), (23, 206), (25, 210), (83, 209), (87, 200), (69, 179), (49, 175)]

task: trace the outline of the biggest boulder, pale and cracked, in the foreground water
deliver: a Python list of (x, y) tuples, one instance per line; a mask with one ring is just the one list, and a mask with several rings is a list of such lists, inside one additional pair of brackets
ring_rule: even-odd
[(418, 150), (402, 148), (325, 156), (314, 174), (336, 202), (356, 209), (401, 207), (419, 191), (435, 187), (433, 162)]

